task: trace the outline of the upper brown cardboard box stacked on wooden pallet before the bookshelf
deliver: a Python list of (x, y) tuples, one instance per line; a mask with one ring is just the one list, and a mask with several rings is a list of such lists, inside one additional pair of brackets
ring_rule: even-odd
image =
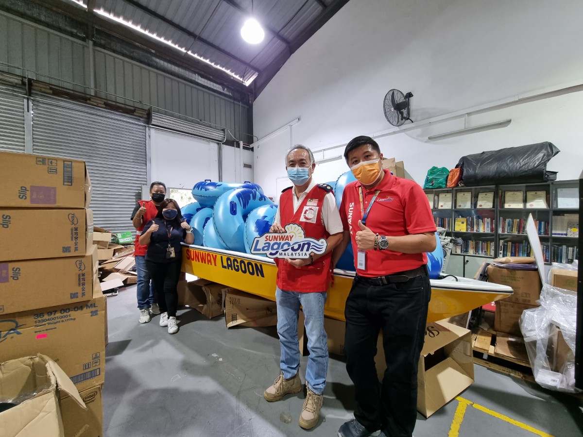
[(540, 298), (540, 275), (538, 270), (510, 270), (502, 267), (488, 267), (488, 282), (511, 287), (514, 294), (504, 299), (504, 302), (536, 305)]

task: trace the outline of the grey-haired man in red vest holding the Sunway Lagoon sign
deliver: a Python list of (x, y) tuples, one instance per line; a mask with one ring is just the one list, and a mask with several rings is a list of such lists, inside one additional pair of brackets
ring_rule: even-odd
[(318, 423), (322, 392), (328, 371), (328, 337), (324, 330), (326, 290), (332, 278), (332, 249), (342, 240), (342, 221), (336, 208), (332, 187), (312, 179), (316, 167), (312, 151), (303, 145), (291, 147), (285, 158), (287, 176), (293, 187), (282, 191), (279, 208), (270, 232), (286, 232), (290, 223), (300, 225), (305, 237), (325, 238), (322, 254), (310, 253), (307, 259), (276, 259), (276, 302), (281, 373), (265, 390), (265, 400), (278, 401), (302, 389), (297, 322), (300, 305), (308, 337), (308, 366), (305, 372), (307, 396), (300, 413), (300, 427), (311, 429)]

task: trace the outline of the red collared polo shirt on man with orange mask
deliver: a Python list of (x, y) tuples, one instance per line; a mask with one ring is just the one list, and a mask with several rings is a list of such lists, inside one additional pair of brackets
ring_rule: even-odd
[[(388, 236), (435, 232), (433, 214), (421, 186), (415, 181), (395, 177), (388, 170), (383, 171), (385, 175), (375, 188), (368, 191), (362, 187), (365, 211), (377, 189), (381, 190), (368, 213), (366, 226), (375, 234)], [(358, 181), (346, 185), (340, 205), (340, 217), (345, 230), (350, 231), (355, 259), (358, 251), (356, 232), (360, 231), (359, 220), (362, 218), (359, 196), (361, 186)], [(416, 269), (424, 264), (427, 264), (425, 253), (395, 252), (391, 251), (389, 245), (384, 251), (366, 251), (366, 270), (357, 269), (356, 272), (360, 276), (384, 276)]]

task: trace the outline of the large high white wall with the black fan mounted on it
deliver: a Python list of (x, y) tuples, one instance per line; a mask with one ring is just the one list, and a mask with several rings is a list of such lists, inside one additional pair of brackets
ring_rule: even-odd
[[(583, 3), (577, 0), (351, 0), (255, 101), (259, 138), (301, 118), (290, 135), (256, 149), (255, 182), (275, 191), (276, 179), (285, 176), (280, 163), (290, 143), (317, 150), (392, 128), (382, 112), (392, 88), (413, 92), (412, 118), (420, 122), (583, 83), (581, 16)], [(422, 183), (432, 165), (453, 168), (465, 154), (550, 141), (561, 153), (549, 170), (572, 179), (583, 167), (582, 105), (578, 92), (468, 118), (468, 125), (512, 118), (504, 129), (427, 141), (429, 135), (461, 129), (458, 119), (378, 142), (385, 156), (405, 161)], [(342, 151), (326, 151), (324, 158)], [(319, 165), (315, 178), (330, 181), (346, 170), (343, 160), (333, 161)]]

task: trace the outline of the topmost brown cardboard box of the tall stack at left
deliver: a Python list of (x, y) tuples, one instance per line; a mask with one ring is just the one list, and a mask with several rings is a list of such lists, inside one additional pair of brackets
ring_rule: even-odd
[(83, 161), (0, 151), (0, 206), (87, 208), (91, 182)]

